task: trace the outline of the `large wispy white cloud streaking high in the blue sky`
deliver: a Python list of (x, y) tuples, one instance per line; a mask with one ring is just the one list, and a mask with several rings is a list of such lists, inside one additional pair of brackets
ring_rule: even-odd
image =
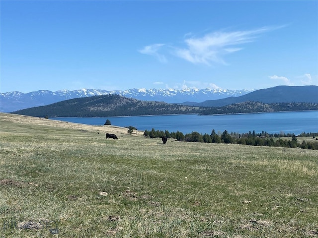
[[(155, 56), (159, 61), (166, 62), (164, 55), (159, 50), (169, 47), (169, 53), (195, 64), (211, 65), (212, 63), (227, 64), (225, 55), (243, 50), (242, 45), (255, 41), (261, 34), (276, 30), (279, 27), (261, 27), (247, 31), (216, 31), (195, 37), (193, 33), (184, 35), (184, 46), (154, 44), (144, 47), (139, 52)], [(172, 50), (171, 50), (172, 49)]]

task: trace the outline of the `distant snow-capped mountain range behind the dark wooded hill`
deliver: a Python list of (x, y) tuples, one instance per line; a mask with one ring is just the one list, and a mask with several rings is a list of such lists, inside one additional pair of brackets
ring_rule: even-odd
[(21, 109), (45, 106), (68, 99), (91, 96), (117, 94), (127, 98), (143, 101), (164, 101), (166, 103), (182, 103), (185, 101), (202, 102), (227, 97), (237, 97), (252, 92), (253, 90), (229, 90), (229, 89), (129, 89), (107, 91), (102, 89), (39, 90), (30, 93), (6, 92), (0, 93), (0, 111), (14, 112)]

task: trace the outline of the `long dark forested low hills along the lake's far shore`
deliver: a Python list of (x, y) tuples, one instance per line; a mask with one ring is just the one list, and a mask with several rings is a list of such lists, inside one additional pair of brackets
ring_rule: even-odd
[(119, 117), (171, 114), (237, 114), (282, 111), (318, 110), (315, 103), (243, 102), (224, 107), (192, 107), (164, 102), (141, 101), (119, 95), (93, 96), (70, 99), (48, 106), (23, 109), (14, 114), (34, 117)]

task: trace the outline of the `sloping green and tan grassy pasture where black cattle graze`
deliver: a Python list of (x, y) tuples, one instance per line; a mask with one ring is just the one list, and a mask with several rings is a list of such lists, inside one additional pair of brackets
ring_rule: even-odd
[(0, 238), (318, 237), (318, 151), (0, 114), (0, 224)]

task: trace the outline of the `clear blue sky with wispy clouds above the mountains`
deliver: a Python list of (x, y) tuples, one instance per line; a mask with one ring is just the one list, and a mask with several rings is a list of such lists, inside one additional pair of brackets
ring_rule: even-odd
[(0, 2), (0, 92), (318, 85), (318, 1)]

